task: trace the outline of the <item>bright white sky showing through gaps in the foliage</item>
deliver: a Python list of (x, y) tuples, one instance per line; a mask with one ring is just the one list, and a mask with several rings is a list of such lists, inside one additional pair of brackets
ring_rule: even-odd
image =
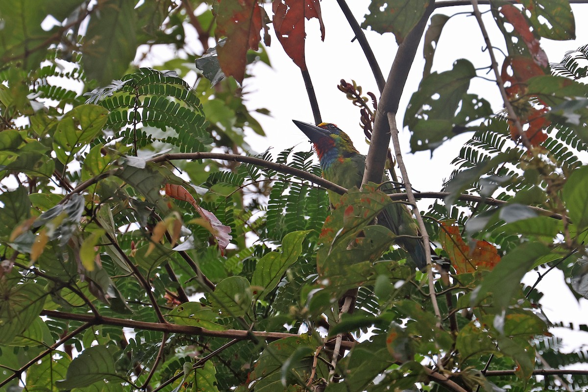
[[(307, 22), (306, 31), (306, 63), (309, 68), (315, 92), (319, 101), (323, 121), (336, 123), (339, 128), (355, 141), (355, 146), (362, 153), (368, 152), (368, 145), (363, 142), (363, 131), (359, 127), (359, 109), (346, 99), (336, 85), (340, 79), (350, 82), (354, 79), (363, 88), (363, 94), (371, 91), (377, 93), (376, 83), (369, 69), (365, 56), (358, 42), (351, 42), (353, 32), (348, 22), (333, 0), (324, 0), (321, 3), (323, 21), (325, 23), (325, 42), (320, 41), (319, 25), (316, 19)], [(350, 8), (360, 22), (366, 14), (369, 1), (348, 1)], [(576, 36), (574, 41), (552, 41), (542, 39), (541, 45), (547, 53), (550, 62), (560, 62), (567, 51), (572, 51), (579, 46), (588, 43), (588, 5), (572, 5), (576, 18)], [(488, 6), (480, 6), (482, 12), (489, 9)], [(436, 13), (453, 15), (458, 12), (470, 12), (471, 6), (459, 6), (441, 8)], [(486, 29), (489, 31), (493, 46), (505, 48), (504, 39), (496, 27), (492, 16), (484, 15)], [(271, 29), (271, 25), (270, 25)], [(189, 31), (188, 31), (189, 32)], [(380, 63), (383, 74), (386, 76), (392, 65), (397, 45), (392, 33), (380, 35), (372, 31), (366, 32), (368, 41), (372, 45), (376, 58)], [(189, 41), (193, 45), (193, 51), (201, 52), (198, 41)], [(482, 52), (485, 47), (479, 26), (473, 16), (457, 15), (451, 18), (445, 27), (437, 44), (435, 61), (432, 71), (443, 72), (452, 69), (456, 59), (466, 58), (476, 68), (482, 68), (490, 64), (487, 52)], [(397, 122), (402, 125), (404, 108), (409, 102), (410, 96), (418, 88), (422, 78), (422, 70), (425, 61), (422, 56), (422, 42), (417, 49), (416, 59), (405, 86), (405, 92), (400, 101)], [(255, 135), (253, 132), (246, 140), (254, 152), (262, 152), (272, 147), (274, 156), (286, 148), (298, 145), (300, 150), (309, 150), (310, 143), (306, 136), (292, 123), (292, 119), (313, 122), (312, 111), (306, 95), (306, 89), (298, 67), (288, 58), (283, 51), (275, 35), (272, 36), (272, 45), (268, 48), (272, 68), (259, 63), (252, 70), (254, 78), (246, 79), (243, 91), (246, 105), (250, 110), (267, 108), (271, 116), (263, 116), (254, 113), (254, 116), (262, 124), (267, 138)], [(160, 57), (160, 55), (162, 55)], [(496, 52), (498, 62), (503, 56)], [(165, 61), (163, 53), (151, 53), (141, 65), (153, 65)], [(492, 74), (487, 75), (493, 78)], [(193, 82), (189, 80), (188, 82)], [(472, 81), (470, 91), (477, 93), (489, 100), (494, 112), (502, 109), (502, 100), (495, 83), (477, 79)], [(460, 135), (450, 142), (446, 142), (437, 148), (432, 157), (429, 152), (409, 153), (410, 134), (407, 129), (400, 129), (400, 143), (403, 152), (410, 181), (415, 189), (420, 191), (437, 191), (453, 170), (450, 162), (457, 156), (462, 143), (468, 140), (471, 133)], [(428, 201), (426, 203), (429, 203)], [(420, 205), (425, 209), (425, 205)], [(533, 284), (536, 272), (527, 274), (524, 283)], [(563, 274), (559, 270), (550, 272), (537, 289), (545, 293), (542, 304), (544, 311), (550, 320), (572, 321), (577, 324), (588, 324), (588, 306), (586, 301), (578, 303), (569, 289), (563, 284)], [(562, 333), (563, 332), (563, 333)], [(567, 330), (554, 329), (553, 333), (564, 337), (564, 343), (570, 350), (588, 342), (588, 334), (583, 332), (570, 333)]]

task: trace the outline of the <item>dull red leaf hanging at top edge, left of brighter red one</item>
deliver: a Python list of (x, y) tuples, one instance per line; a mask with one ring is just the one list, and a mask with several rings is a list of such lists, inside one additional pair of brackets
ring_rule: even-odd
[(256, 0), (219, 0), (214, 8), (216, 35), (226, 36), (225, 45), (219, 46), (220, 68), (239, 83), (245, 77), (248, 49), (257, 50), (262, 28), (262, 8)]

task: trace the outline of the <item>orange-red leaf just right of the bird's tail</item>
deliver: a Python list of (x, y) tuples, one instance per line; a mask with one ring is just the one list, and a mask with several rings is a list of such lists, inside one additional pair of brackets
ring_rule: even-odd
[(474, 246), (470, 247), (459, 233), (459, 227), (451, 225), (451, 222), (442, 222), (440, 240), (457, 274), (492, 270), (500, 261), (495, 246), (487, 241), (473, 240)]

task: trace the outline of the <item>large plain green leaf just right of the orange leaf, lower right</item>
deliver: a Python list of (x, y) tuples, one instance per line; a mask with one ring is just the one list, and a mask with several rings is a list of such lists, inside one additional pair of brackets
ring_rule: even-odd
[(549, 248), (537, 242), (523, 243), (511, 250), (476, 287), (472, 293), (472, 306), (492, 294), (494, 306), (506, 309), (513, 300), (513, 294), (519, 289), (524, 274), (533, 267), (535, 260), (547, 253)]

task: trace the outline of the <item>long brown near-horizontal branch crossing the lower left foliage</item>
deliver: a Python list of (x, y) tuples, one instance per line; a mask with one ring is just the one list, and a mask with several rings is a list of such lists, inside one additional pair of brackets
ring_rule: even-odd
[[(86, 323), (93, 322), (94, 324), (111, 325), (118, 327), (128, 327), (139, 330), (148, 331), (162, 331), (168, 333), (180, 333), (185, 335), (195, 336), (210, 336), (210, 337), (222, 337), (226, 339), (238, 339), (238, 340), (252, 340), (252, 337), (260, 340), (279, 340), (286, 337), (300, 336), (294, 333), (285, 332), (265, 332), (265, 331), (248, 331), (248, 330), (236, 330), (228, 329), (224, 331), (212, 331), (201, 327), (183, 326), (179, 324), (169, 323), (149, 323), (147, 321), (136, 321), (128, 319), (115, 319), (114, 317), (93, 317), (91, 314), (75, 314), (66, 313), (63, 311), (55, 310), (43, 310), (41, 316), (53, 317), (54, 319), (62, 320), (76, 320), (83, 321)], [(345, 350), (350, 350), (355, 346), (353, 341), (342, 341), (341, 347)], [(327, 346), (334, 346), (334, 343), (328, 343)]]

